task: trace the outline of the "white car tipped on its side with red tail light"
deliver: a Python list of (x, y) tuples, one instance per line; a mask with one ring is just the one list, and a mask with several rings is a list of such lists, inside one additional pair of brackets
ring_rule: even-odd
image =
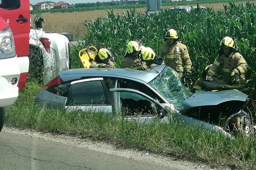
[[(68, 38), (57, 33), (49, 33), (30, 29), (29, 47), (36, 50), (38, 56), (31, 55), (29, 60), (39, 60), (43, 85), (59, 75), (63, 70), (69, 69)], [(30, 64), (32, 67), (32, 65)], [(30, 67), (30, 70), (33, 69)], [(34, 68), (35, 69), (35, 68)]]

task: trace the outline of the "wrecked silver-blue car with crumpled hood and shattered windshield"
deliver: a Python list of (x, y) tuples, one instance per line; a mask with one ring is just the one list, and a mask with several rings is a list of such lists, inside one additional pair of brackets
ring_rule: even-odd
[(125, 119), (186, 124), (226, 135), (253, 131), (247, 95), (238, 90), (189, 92), (177, 73), (165, 65), (132, 69), (72, 69), (60, 73), (37, 93), (35, 102), (65, 108), (120, 115)]

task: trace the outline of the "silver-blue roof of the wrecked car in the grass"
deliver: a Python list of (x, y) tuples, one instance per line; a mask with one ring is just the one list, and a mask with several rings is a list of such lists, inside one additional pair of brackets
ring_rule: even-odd
[(77, 80), (83, 77), (117, 77), (131, 80), (150, 82), (164, 69), (165, 65), (159, 65), (145, 71), (118, 68), (90, 68), (70, 69), (60, 73), (63, 81)]

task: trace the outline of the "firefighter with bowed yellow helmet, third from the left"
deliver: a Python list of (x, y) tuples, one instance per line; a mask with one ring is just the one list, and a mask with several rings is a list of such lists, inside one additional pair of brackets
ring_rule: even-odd
[(141, 51), (140, 59), (142, 62), (146, 62), (147, 68), (164, 64), (163, 59), (161, 57), (157, 57), (153, 49), (150, 47), (144, 48)]

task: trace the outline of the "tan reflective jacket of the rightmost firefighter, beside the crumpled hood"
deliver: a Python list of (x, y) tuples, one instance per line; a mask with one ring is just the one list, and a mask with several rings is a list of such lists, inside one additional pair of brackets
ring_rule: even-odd
[(234, 51), (231, 55), (218, 55), (208, 71), (208, 75), (212, 77), (216, 74), (223, 76), (222, 81), (230, 83), (232, 71), (236, 71), (236, 81), (243, 83), (245, 81), (245, 73), (248, 70), (248, 64), (244, 57)]

